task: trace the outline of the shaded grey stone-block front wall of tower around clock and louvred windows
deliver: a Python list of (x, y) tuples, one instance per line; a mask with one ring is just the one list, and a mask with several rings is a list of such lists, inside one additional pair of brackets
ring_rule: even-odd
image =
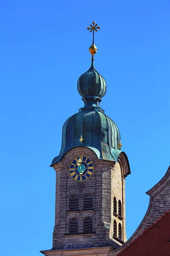
[[(74, 181), (68, 173), (71, 160), (78, 155), (87, 155), (94, 162), (94, 174), (85, 182)], [(113, 240), (111, 231), (111, 223), (113, 222), (113, 195), (111, 191), (112, 186), (115, 186), (117, 182), (116, 177), (113, 177), (114, 164), (111, 161), (99, 160), (94, 151), (89, 148), (78, 147), (68, 151), (62, 162), (54, 166), (57, 173), (54, 249), (104, 246), (117, 248), (120, 246), (119, 242)], [(121, 175), (120, 171), (119, 174)], [(119, 176), (119, 174), (117, 175)], [(119, 179), (122, 180), (121, 177)], [(116, 190), (119, 189), (120, 191), (117, 193), (122, 195), (122, 183), (119, 185)], [(93, 211), (83, 211), (83, 199), (86, 193), (93, 195)], [(69, 199), (73, 194), (79, 197), (79, 212), (69, 212)], [(93, 220), (94, 234), (82, 234), (83, 221), (88, 216)], [(79, 222), (79, 234), (69, 235), (69, 221), (74, 217)]]

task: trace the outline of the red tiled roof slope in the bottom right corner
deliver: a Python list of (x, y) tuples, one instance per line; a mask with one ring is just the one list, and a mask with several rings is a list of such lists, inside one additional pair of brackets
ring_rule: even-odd
[(116, 256), (170, 256), (170, 210)]

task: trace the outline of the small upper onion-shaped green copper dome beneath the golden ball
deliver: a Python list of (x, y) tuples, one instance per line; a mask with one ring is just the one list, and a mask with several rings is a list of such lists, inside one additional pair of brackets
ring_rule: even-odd
[(77, 89), (85, 103), (84, 108), (99, 107), (106, 93), (106, 81), (95, 69), (93, 60), (89, 70), (79, 77)]

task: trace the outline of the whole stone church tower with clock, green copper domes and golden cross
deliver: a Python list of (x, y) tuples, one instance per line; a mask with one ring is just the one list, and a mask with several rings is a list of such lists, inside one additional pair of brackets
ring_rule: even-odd
[(110, 255), (126, 241), (125, 177), (130, 174), (121, 151), (117, 125), (99, 104), (106, 93), (105, 79), (94, 67), (94, 31), (91, 67), (77, 89), (84, 107), (65, 121), (61, 151), (51, 167), (56, 171), (56, 207), (53, 247), (41, 251), (55, 255)]

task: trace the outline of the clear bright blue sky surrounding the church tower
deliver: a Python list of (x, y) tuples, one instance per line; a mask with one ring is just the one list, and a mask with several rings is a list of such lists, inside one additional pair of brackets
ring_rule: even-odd
[(83, 106), (79, 76), (91, 65), (107, 82), (101, 107), (129, 158), (127, 237), (147, 210), (145, 194), (170, 165), (170, 1), (0, 2), (0, 162), (3, 256), (51, 249), (62, 125)]

